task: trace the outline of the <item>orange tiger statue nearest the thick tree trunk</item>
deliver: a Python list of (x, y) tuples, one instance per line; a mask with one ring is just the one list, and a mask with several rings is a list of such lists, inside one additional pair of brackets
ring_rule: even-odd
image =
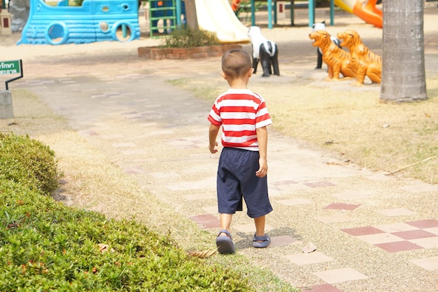
[(362, 85), (365, 76), (373, 83), (381, 83), (382, 58), (373, 53), (362, 43), (358, 32), (347, 29), (345, 32), (337, 34), (341, 40), (341, 46), (345, 46), (351, 53), (351, 62), (358, 74), (356, 85)]

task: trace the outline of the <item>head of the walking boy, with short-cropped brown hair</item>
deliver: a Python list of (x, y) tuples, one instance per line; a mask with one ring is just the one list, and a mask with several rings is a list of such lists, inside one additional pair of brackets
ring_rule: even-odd
[(228, 78), (243, 78), (252, 68), (251, 58), (244, 50), (228, 50), (222, 56), (222, 72)]

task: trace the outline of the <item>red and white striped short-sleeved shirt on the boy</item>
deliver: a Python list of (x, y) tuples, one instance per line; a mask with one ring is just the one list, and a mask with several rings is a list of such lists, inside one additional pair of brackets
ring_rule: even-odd
[(258, 151), (259, 127), (271, 125), (264, 99), (248, 89), (229, 89), (216, 99), (208, 118), (222, 125), (222, 146)]

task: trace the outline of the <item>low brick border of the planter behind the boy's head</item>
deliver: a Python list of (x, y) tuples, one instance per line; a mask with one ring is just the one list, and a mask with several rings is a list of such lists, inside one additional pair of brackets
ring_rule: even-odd
[(240, 45), (225, 44), (218, 46), (205, 46), (196, 48), (159, 48), (159, 47), (139, 47), (139, 57), (151, 60), (186, 60), (199, 59), (204, 57), (220, 57), (227, 50), (242, 48)]

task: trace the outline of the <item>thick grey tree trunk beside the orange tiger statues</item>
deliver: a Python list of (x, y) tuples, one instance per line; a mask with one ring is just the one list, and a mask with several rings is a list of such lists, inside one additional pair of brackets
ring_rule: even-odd
[(426, 92), (424, 0), (383, 1), (383, 58), (380, 99), (414, 102)]

